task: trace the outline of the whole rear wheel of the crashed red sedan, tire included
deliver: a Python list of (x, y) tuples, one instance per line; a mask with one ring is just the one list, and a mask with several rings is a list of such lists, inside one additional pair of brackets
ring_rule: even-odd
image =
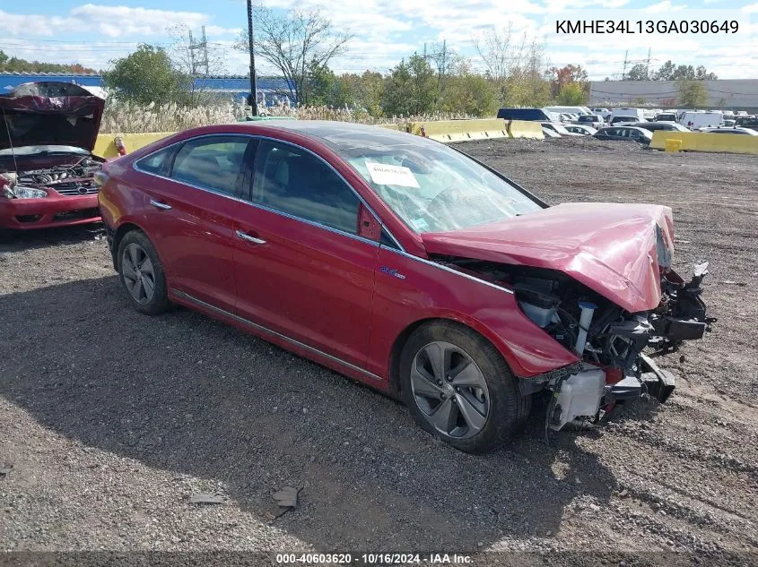
[(118, 275), (137, 311), (148, 315), (166, 311), (169, 297), (161, 259), (143, 232), (132, 230), (118, 243)]

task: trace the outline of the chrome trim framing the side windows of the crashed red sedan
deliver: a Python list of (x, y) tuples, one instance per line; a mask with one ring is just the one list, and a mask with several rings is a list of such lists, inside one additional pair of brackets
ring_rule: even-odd
[[(347, 187), (358, 198), (358, 201), (361, 202), (364, 207), (366, 207), (366, 210), (369, 210), (369, 212), (374, 216), (374, 219), (377, 219), (377, 222), (379, 222), (379, 225), (381, 225), (381, 227), (384, 228), (387, 231), (387, 234), (389, 235), (390, 238), (392, 238), (392, 241), (396, 244), (396, 246), (400, 250), (402, 250), (403, 252), (405, 252), (405, 248), (403, 247), (403, 245), (401, 245), (397, 241), (395, 235), (392, 234), (392, 232), (389, 230), (389, 228), (387, 227), (387, 225), (385, 225), (383, 222), (381, 222), (381, 219), (379, 219), (379, 215), (376, 213), (376, 211), (373, 210), (370, 207), (369, 203), (366, 202), (363, 199), (363, 197), (357, 191), (355, 191), (355, 188), (353, 187), (353, 185), (350, 185), (347, 182), (347, 180), (344, 178), (344, 176), (339, 171), (337, 171), (334, 168), (334, 166), (332, 166), (332, 164), (330, 164), (326, 159), (323, 159), (321, 156), (319, 156), (314, 151), (309, 150), (308, 148), (304, 148), (300, 144), (297, 144), (297, 143), (294, 143), (294, 142), (288, 142), (286, 140), (280, 140), (279, 138), (273, 138), (271, 136), (266, 136), (266, 135), (263, 135), (263, 134), (252, 134), (252, 133), (207, 133), (207, 134), (203, 134), (203, 135), (200, 135), (200, 136), (195, 136), (193, 138), (186, 138), (184, 140), (179, 140), (178, 142), (170, 143), (170, 144), (168, 144), (166, 146), (163, 146), (162, 148), (159, 148), (158, 150), (152, 151), (152, 152), (150, 152), (149, 154), (143, 156), (140, 159), (135, 159), (135, 161), (132, 162), (132, 168), (135, 171), (138, 171), (139, 173), (144, 174), (145, 176), (158, 177), (160, 179), (165, 179), (167, 181), (173, 181), (174, 183), (179, 183), (181, 185), (187, 185), (187, 187), (192, 187), (193, 189), (198, 189), (200, 191), (205, 191), (206, 193), (212, 193), (214, 195), (219, 195), (221, 197), (226, 197), (227, 199), (231, 199), (232, 201), (241, 202), (241, 203), (247, 204), (247, 205), (249, 205), (251, 207), (256, 207), (257, 209), (267, 210), (269, 212), (273, 212), (275, 214), (282, 215), (283, 217), (286, 217), (288, 219), (300, 220), (301, 222), (304, 222), (304, 223), (310, 225), (311, 227), (324, 228), (324, 229), (326, 229), (326, 230), (328, 230), (330, 232), (334, 232), (334, 233), (339, 234), (339, 235), (350, 236), (351, 238), (354, 238), (354, 239), (359, 240), (361, 242), (366, 242), (366, 243), (369, 243), (371, 245), (379, 246), (379, 242), (375, 242), (373, 240), (370, 240), (369, 238), (365, 238), (363, 236), (360, 236), (358, 234), (354, 234), (352, 232), (345, 232), (344, 230), (340, 230), (339, 228), (329, 227), (329, 226), (327, 226), (325, 224), (322, 224), (322, 223), (319, 223), (319, 222), (317, 222), (315, 220), (303, 219), (302, 217), (297, 217), (295, 215), (283, 212), (282, 210), (276, 210), (276, 209), (273, 209), (271, 207), (266, 207), (266, 205), (263, 205), (261, 203), (248, 201), (247, 199), (241, 199), (239, 197), (235, 197), (234, 195), (230, 195), (228, 193), (222, 193), (220, 191), (216, 191), (216, 190), (210, 189), (208, 187), (203, 187), (203, 186), (200, 186), (200, 185), (195, 185), (195, 184), (187, 183), (186, 181), (180, 181), (179, 179), (174, 179), (172, 177), (161, 176), (161, 175), (159, 175), (157, 173), (153, 173), (152, 171), (145, 171), (144, 169), (139, 168), (137, 166), (137, 162), (142, 161), (143, 159), (148, 159), (153, 154), (158, 153), (159, 151), (162, 151), (162, 150), (166, 150), (166, 149), (168, 149), (168, 148), (170, 148), (172, 146), (183, 144), (183, 143), (188, 142), (190, 140), (199, 140), (201, 138), (211, 138), (211, 137), (218, 137), (218, 136), (241, 136), (241, 137), (246, 137), (246, 138), (256, 138), (258, 140), (269, 140), (271, 142), (283, 143), (283, 144), (292, 146), (293, 148), (297, 148), (298, 150), (303, 150), (303, 151), (308, 152), (309, 154), (311, 154), (312, 156), (314, 156), (318, 160), (320, 160), (322, 163), (324, 163), (325, 165), (327, 165), (327, 167), (329, 169), (331, 169), (335, 173), (335, 175), (338, 176), (342, 180), (342, 182), (344, 183), (344, 185), (347, 185)], [(253, 172), (253, 176), (255, 176), (255, 171)], [(358, 220), (359, 219), (356, 219), (356, 223), (357, 223)]]

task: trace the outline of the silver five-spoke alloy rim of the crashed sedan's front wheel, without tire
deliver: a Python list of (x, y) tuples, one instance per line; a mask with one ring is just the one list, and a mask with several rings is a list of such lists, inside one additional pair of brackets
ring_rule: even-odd
[(411, 390), (423, 416), (440, 434), (466, 439), (487, 423), (490, 391), (484, 374), (462, 348), (435, 341), (411, 365)]

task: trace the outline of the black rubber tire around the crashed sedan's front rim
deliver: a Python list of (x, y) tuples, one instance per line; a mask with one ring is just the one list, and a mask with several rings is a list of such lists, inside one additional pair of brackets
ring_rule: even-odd
[[(442, 434), (424, 417), (411, 387), (411, 367), (425, 346), (443, 341), (462, 349), (484, 375), (489, 394), (489, 410), (482, 429), (471, 437), (456, 438)], [(400, 356), (400, 394), (414, 420), (424, 431), (436, 435), (459, 451), (485, 453), (509, 442), (526, 421), (531, 409), (531, 396), (518, 389), (518, 379), (492, 343), (479, 333), (456, 322), (424, 323), (405, 342)]]

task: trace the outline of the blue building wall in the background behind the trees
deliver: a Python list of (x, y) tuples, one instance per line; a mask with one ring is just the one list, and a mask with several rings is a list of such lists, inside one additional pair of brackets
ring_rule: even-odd
[[(0, 92), (7, 92), (25, 82), (60, 81), (75, 82), (83, 87), (102, 87), (100, 75), (76, 75), (54, 73), (0, 73)], [(232, 97), (245, 98), (250, 93), (250, 80), (248, 77), (198, 77), (195, 80), (197, 89), (210, 90), (212, 92), (230, 94)], [(266, 95), (266, 102), (271, 104), (273, 96), (277, 93), (287, 93), (287, 82), (283, 79), (257, 79), (257, 91)], [(281, 94), (280, 94), (281, 96)]]

